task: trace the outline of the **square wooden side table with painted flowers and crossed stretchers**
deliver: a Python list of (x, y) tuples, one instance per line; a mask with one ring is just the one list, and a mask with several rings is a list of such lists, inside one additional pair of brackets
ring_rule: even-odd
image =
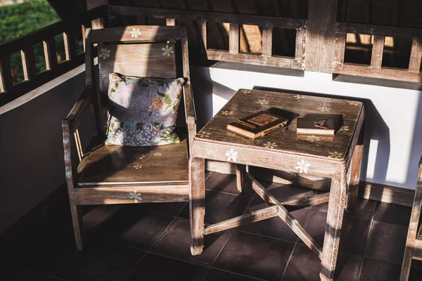
[[(287, 131), (274, 131), (256, 140), (226, 131), (226, 124), (269, 107), (279, 107), (300, 116), (341, 114), (343, 126), (331, 137), (297, 135), (295, 119)], [(357, 200), (363, 123), (363, 105), (357, 101), (239, 90), (193, 141), (189, 171), (191, 253), (198, 255), (203, 251), (204, 235), (279, 216), (321, 259), (321, 280), (333, 280), (344, 209), (354, 207)], [(236, 163), (238, 189), (242, 190), (243, 180), (249, 178), (253, 190), (269, 207), (205, 227), (205, 159)], [(278, 202), (248, 173), (249, 165), (331, 178), (331, 190), (310, 198)], [(284, 206), (308, 207), (328, 200), (324, 247), (321, 247)]]

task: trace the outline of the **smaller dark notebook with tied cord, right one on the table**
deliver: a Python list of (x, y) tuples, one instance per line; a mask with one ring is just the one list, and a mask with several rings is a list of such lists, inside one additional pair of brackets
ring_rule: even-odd
[(342, 120), (342, 115), (307, 114), (298, 118), (296, 133), (334, 136), (335, 131), (340, 129)]

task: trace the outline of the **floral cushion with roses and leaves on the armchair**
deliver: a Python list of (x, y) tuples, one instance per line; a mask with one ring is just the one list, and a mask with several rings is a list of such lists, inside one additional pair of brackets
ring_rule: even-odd
[(108, 75), (108, 145), (179, 143), (174, 133), (184, 79)]

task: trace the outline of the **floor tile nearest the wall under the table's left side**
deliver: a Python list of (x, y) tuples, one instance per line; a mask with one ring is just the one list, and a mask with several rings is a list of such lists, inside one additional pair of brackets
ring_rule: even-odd
[[(246, 184), (246, 186), (248, 186), (248, 184)], [(226, 192), (234, 195), (242, 194), (248, 197), (255, 195), (255, 192), (251, 188), (245, 188), (243, 192), (240, 192), (236, 187), (235, 175), (219, 174), (216, 172), (213, 172), (210, 177), (207, 178), (205, 188), (207, 190)]]

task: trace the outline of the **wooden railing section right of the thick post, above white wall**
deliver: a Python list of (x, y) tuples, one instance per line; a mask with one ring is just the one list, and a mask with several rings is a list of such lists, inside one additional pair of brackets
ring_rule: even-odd
[[(373, 36), (371, 65), (345, 63), (347, 33)], [(407, 69), (382, 66), (385, 37), (409, 38), (412, 40), (411, 52), (409, 53), (409, 67)], [(422, 30), (420, 29), (338, 22), (335, 32), (333, 73), (421, 83), (421, 41)]]

